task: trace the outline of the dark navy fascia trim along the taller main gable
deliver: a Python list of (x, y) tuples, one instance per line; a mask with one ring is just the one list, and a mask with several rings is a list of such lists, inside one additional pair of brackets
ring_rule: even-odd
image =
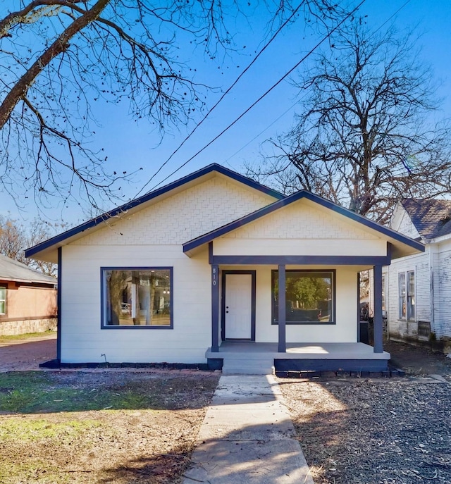
[(102, 213), (98, 217), (92, 218), (91, 220), (85, 223), (82, 223), (77, 227), (71, 228), (70, 230), (63, 232), (60, 235), (56, 235), (56, 237), (52, 237), (51, 239), (46, 240), (45, 242), (42, 242), (33, 247), (30, 247), (29, 249), (26, 249), (25, 257), (31, 257), (37, 254), (38, 252), (41, 252), (42, 250), (49, 249), (49, 247), (52, 247), (53, 245), (61, 244), (69, 237), (73, 237), (73, 235), (77, 235), (80, 232), (84, 232), (89, 228), (95, 227), (100, 223), (108, 221), (110, 218), (121, 215), (121, 213), (127, 213), (127, 211), (135, 208), (135, 206), (143, 204), (144, 202), (152, 200), (156, 197), (160, 197), (163, 194), (171, 192), (171, 190), (174, 190), (175, 188), (181, 187), (188, 182), (192, 182), (193, 180), (196, 180), (197, 178), (201, 178), (202, 176), (212, 173), (214, 171), (216, 171), (217, 173), (221, 173), (221, 175), (225, 175), (228, 178), (232, 178), (237, 182), (241, 182), (244, 185), (247, 185), (248, 187), (254, 188), (255, 190), (259, 190), (260, 192), (270, 195), (271, 197), (274, 197), (276, 199), (280, 200), (285, 198), (285, 195), (281, 194), (280, 192), (277, 192), (276, 190), (266, 187), (265, 185), (261, 185), (261, 183), (255, 182), (254, 180), (251, 180), (250, 178), (247, 178), (244, 175), (240, 175), (240, 173), (236, 173), (233, 170), (224, 168), (223, 166), (218, 165), (217, 163), (212, 163), (211, 165), (201, 168), (200, 170), (194, 171), (194, 173), (191, 173), (190, 175), (180, 178), (179, 180), (175, 180), (174, 182), (171, 182), (168, 185), (165, 185), (164, 187), (154, 190), (153, 192), (149, 192), (143, 195), (142, 197), (139, 197), (132, 201), (128, 201), (126, 204), (118, 206), (116, 209)]

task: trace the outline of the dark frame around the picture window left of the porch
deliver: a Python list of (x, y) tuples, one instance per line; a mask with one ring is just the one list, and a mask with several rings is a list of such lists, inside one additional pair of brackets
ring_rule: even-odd
[[(169, 316), (171, 324), (168, 326), (152, 325), (108, 325), (104, 324), (105, 318), (105, 271), (169, 271), (169, 287), (171, 291), (171, 311)], [(172, 266), (108, 266), (100, 268), (100, 328), (102, 330), (172, 330), (174, 328), (174, 291), (173, 291), (173, 267)]]

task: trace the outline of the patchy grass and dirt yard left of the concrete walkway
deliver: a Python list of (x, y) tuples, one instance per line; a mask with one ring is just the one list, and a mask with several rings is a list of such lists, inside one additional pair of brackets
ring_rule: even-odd
[(0, 483), (178, 484), (219, 376), (0, 373)]

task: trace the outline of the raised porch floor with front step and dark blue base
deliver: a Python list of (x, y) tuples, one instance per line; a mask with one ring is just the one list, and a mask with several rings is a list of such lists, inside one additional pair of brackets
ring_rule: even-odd
[(278, 351), (276, 342), (224, 341), (218, 351), (209, 348), (206, 359), (211, 369), (223, 373), (267, 374), (299, 372), (387, 372), (388, 352), (374, 352), (362, 342), (286, 343), (286, 351)]

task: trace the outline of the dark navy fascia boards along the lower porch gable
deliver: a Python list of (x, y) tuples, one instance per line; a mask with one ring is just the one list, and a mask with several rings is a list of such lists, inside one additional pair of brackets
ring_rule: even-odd
[(340, 213), (340, 215), (350, 218), (351, 220), (356, 221), (358, 223), (362, 223), (362, 225), (365, 225), (368, 228), (376, 230), (387, 237), (391, 237), (397, 240), (398, 242), (402, 242), (403, 244), (407, 244), (410, 247), (413, 247), (414, 249), (424, 252), (425, 247), (424, 247), (424, 244), (421, 244), (421, 242), (417, 242), (416, 240), (413, 240), (410, 237), (406, 237), (405, 235), (402, 235), (391, 228), (385, 227), (385, 225), (381, 225), (380, 223), (373, 222), (369, 220), (369, 218), (365, 218), (364, 216), (359, 215), (358, 213), (354, 213), (353, 211), (345, 209), (344, 207), (333, 203), (333, 201), (328, 201), (326, 199), (319, 197), (318, 195), (314, 195), (311, 192), (307, 192), (307, 190), (301, 190), (300, 192), (296, 192), (292, 195), (289, 195), (288, 197), (285, 197), (284, 199), (275, 201), (272, 204), (263, 207), (262, 209), (249, 213), (249, 215), (239, 218), (236, 221), (223, 225), (222, 227), (219, 227), (216, 230), (212, 230), (211, 232), (201, 235), (196, 239), (185, 242), (185, 244), (183, 244), (183, 252), (185, 253), (190, 252), (190, 250), (195, 249), (202, 244), (211, 242), (211, 240), (214, 240), (217, 237), (222, 237), (223, 235), (226, 235), (228, 232), (231, 232), (232, 230), (240, 228), (243, 225), (246, 225), (247, 223), (253, 222), (260, 217), (268, 215), (268, 213), (281, 209), (284, 206), (290, 205), (293, 202), (303, 198), (310, 201), (314, 201), (316, 204), (326, 207), (326, 209), (330, 209), (335, 213)]

